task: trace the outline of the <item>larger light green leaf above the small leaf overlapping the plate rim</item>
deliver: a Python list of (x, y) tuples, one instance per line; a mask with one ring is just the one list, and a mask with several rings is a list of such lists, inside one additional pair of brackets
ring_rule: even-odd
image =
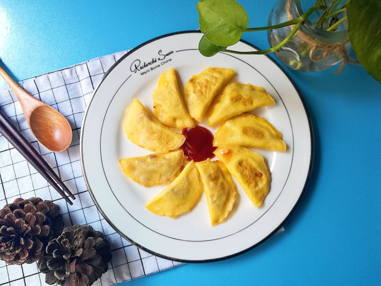
[(234, 0), (202, 0), (197, 3), (202, 33), (217, 46), (237, 43), (249, 24), (245, 9)]

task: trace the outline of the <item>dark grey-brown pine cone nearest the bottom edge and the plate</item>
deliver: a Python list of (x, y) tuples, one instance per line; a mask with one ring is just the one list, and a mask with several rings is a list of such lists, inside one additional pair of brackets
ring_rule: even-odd
[(103, 233), (91, 226), (67, 227), (46, 246), (38, 262), (45, 282), (64, 286), (87, 286), (107, 271), (111, 260), (110, 244)]

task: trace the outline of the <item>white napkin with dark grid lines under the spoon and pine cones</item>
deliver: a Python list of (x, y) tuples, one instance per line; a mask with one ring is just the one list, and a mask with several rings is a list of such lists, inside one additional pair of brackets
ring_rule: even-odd
[[(113, 258), (109, 270), (93, 285), (109, 286), (162, 271), (181, 263), (165, 260), (131, 245), (116, 233), (98, 212), (87, 190), (79, 157), (79, 134), (86, 104), (94, 87), (105, 72), (126, 51), (79, 63), (73, 67), (27, 79), (19, 84), (34, 97), (62, 113), (73, 129), (73, 142), (68, 150), (53, 153), (31, 135), (22, 109), (14, 93), (0, 88), (0, 108), (25, 138), (41, 153), (75, 195), (69, 205), (46, 180), (0, 135), (0, 209), (16, 198), (39, 197), (60, 206), (65, 226), (91, 225), (105, 234), (111, 244)], [(7, 265), (0, 261), (0, 286), (47, 285), (45, 275), (36, 263)]]

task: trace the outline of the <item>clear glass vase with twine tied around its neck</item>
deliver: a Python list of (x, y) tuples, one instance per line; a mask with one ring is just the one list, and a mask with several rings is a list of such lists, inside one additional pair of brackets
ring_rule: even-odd
[[(315, 1), (305, 0), (305, 11)], [(308, 6), (310, 4), (310, 6)], [(268, 25), (275, 25), (295, 19), (304, 13), (300, 0), (278, 0), (269, 17)], [(311, 15), (312, 21), (319, 15)], [(294, 25), (268, 30), (268, 39), (273, 47), (283, 41)], [(338, 63), (340, 72), (348, 58), (352, 46), (348, 40), (347, 22), (344, 21), (336, 31), (327, 31), (306, 20), (297, 33), (274, 54), (291, 69), (303, 72), (318, 72), (331, 68)]]

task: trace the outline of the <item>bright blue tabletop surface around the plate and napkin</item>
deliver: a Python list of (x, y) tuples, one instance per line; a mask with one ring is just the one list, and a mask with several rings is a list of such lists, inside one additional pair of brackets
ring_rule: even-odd
[[(197, 29), (196, 2), (0, 0), (0, 58), (16, 80), (65, 68)], [(267, 24), (272, 1), (240, 3), (249, 26)], [(265, 32), (243, 39), (269, 47)], [(286, 68), (310, 113), (315, 157), (285, 232), (236, 258), (186, 264), (123, 285), (380, 284), (381, 84), (362, 67), (335, 70)]]

